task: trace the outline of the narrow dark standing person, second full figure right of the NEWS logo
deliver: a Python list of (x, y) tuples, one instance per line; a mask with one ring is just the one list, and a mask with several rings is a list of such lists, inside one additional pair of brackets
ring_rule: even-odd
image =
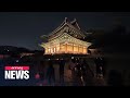
[(65, 60), (60, 60), (60, 83), (64, 83), (64, 66), (65, 66)]

